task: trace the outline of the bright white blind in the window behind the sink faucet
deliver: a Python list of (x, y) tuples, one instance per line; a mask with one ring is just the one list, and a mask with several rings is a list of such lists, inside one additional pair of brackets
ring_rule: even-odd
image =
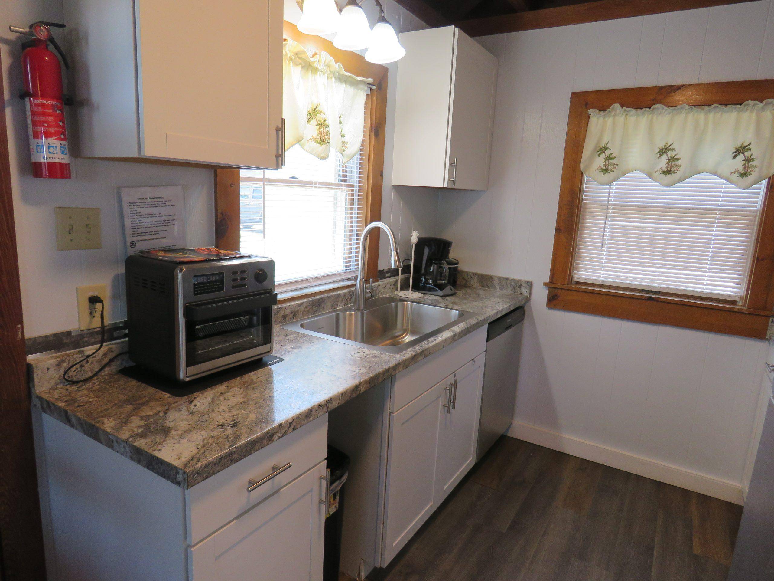
[(368, 131), (346, 164), (340, 153), (319, 160), (296, 145), (287, 150), (281, 170), (241, 170), (241, 250), (274, 259), (278, 288), (357, 274), (367, 142)]

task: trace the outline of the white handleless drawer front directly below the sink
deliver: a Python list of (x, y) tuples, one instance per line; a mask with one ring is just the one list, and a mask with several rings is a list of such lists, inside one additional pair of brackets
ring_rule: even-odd
[(398, 411), (485, 350), (486, 327), (481, 327), (408, 369), (402, 370), (395, 376), (389, 411)]

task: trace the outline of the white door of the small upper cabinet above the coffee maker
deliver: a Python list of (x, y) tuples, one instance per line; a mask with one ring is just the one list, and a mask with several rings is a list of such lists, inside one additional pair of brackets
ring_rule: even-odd
[(497, 59), (461, 30), (455, 32), (446, 187), (486, 190)]

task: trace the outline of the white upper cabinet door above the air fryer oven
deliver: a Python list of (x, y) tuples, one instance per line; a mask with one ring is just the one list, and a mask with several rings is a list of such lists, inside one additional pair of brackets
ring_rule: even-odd
[(140, 155), (276, 167), (282, 0), (135, 0)]

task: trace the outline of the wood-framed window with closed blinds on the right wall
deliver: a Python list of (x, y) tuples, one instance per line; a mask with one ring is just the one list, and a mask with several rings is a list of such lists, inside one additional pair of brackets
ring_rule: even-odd
[[(626, 143), (622, 136), (635, 133), (600, 132), (605, 125), (599, 118), (611, 119), (611, 108), (618, 115), (625, 108), (741, 105), (772, 97), (774, 81), (570, 95), (553, 256), (544, 283), (546, 306), (765, 339), (774, 316), (772, 178), (762, 175), (754, 185), (748, 180), (747, 189), (708, 173), (658, 184), (639, 171), (627, 173), (632, 152), (652, 151), (656, 174), (663, 176), (674, 174), (676, 164), (692, 163), (691, 152), (684, 156), (678, 150), (670, 156), (673, 143), (662, 146), (663, 140)], [(587, 141), (590, 146), (584, 148)], [(735, 155), (729, 159), (740, 168), (731, 174), (768, 163), (768, 158), (749, 153), (749, 143), (731, 145), (735, 147), (728, 154)], [(656, 156), (662, 150), (666, 154)], [(591, 170), (584, 173), (581, 166)], [(617, 179), (601, 179), (614, 171)], [(603, 181), (609, 185), (601, 185)]]

